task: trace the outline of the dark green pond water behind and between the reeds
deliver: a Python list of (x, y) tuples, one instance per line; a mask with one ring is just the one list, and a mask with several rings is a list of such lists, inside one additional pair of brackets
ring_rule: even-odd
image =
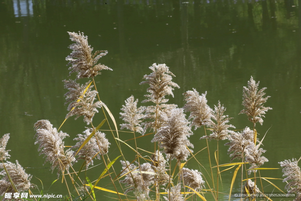
[[(257, 126), (260, 138), (272, 126), (264, 140), (267, 150), (264, 155), (269, 162), (263, 167), (279, 168), (278, 162), (284, 159), (298, 159), (301, 155), (299, 4), (296, 0), (2, 1), (0, 132), (11, 133), (8, 143), (11, 161), (18, 160), (28, 167), (26, 171), (40, 178), (45, 189), (57, 178), (55, 172), (49, 172), (48, 163), (42, 166), (44, 159), (34, 145), (33, 124), (49, 119), (59, 127), (67, 113), (62, 83), (69, 74), (65, 57), (70, 54), (67, 47), (71, 41), (67, 31), (82, 31), (89, 36), (95, 50), (108, 50), (109, 54), (100, 61), (113, 71), (103, 72), (96, 77), (96, 83), (102, 101), (118, 124), (126, 98), (133, 94), (143, 100), (147, 86), (139, 83), (144, 74), (150, 73), (148, 67), (166, 63), (177, 76), (174, 81), (181, 86), (174, 91), (171, 103), (182, 107), (182, 93), (192, 88), (200, 93), (207, 91), (208, 104), (214, 107), (220, 100), (227, 107), (227, 114), (234, 117), (231, 124), (237, 129), (251, 127), (246, 115), (237, 114), (242, 110), (242, 88), (253, 76), (260, 80), (260, 87), (267, 87), (266, 93), (271, 98), (266, 106), (273, 108), (263, 126)], [(101, 114), (96, 115), (95, 124), (102, 119)], [(84, 126), (81, 120), (68, 119), (62, 127), (70, 134), (65, 145), (73, 145), (72, 139), (85, 130)], [(132, 138), (127, 135), (122, 134), (121, 138)], [(198, 140), (202, 135), (202, 130), (196, 130), (190, 139), (196, 151), (205, 147)], [(113, 159), (119, 152), (110, 133), (107, 136), (112, 143), (109, 153)], [(147, 140), (151, 137), (138, 143), (144, 146)], [(214, 151), (216, 142), (209, 146)], [(221, 147), (220, 163), (229, 162), (227, 148)], [(132, 151), (126, 147), (124, 150), (132, 161)], [(205, 152), (199, 153), (198, 159), (208, 167)], [(120, 166), (115, 168), (119, 171)], [(196, 162), (190, 162), (188, 168), (199, 169)], [(96, 179), (103, 169), (102, 165), (95, 167), (89, 173), (90, 179)], [(261, 174), (282, 178), (281, 170)], [(224, 192), (228, 192), (232, 175), (233, 171), (222, 175)], [(41, 187), (35, 177), (32, 181)], [(103, 185), (107, 183), (104, 181)], [(281, 181), (275, 183), (284, 187)], [(64, 194), (65, 188), (57, 181), (49, 192)], [(238, 180), (236, 188), (239, 189)], [(107, 198), (102, 196), (102, 199)]]

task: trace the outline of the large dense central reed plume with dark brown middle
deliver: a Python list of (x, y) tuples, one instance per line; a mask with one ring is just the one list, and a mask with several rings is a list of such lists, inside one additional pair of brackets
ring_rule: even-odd
[(182, 108), (172, 109), (161, 117), (165, 123), (158, 130), (152, 142), (158, 142), (164, 153), (177, 160), (186, 160), (190, 152), (186, 146), (193, 147), (187, 137), (192, 135), (190, 123)]

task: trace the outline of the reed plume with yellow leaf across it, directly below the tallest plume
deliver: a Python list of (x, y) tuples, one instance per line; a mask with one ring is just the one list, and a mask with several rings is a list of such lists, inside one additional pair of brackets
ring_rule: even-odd
[(82, 86), (79, 86), (79, 84), (73, 80), (64, 80), (64, 83), (65, 88), (69, 90), (69, 92), (65, 94), (67, 99), (66, 103), (70, 102), (67, 108), (70, 112), (67, 114), (66, 118), (73, 115), (77, 115), (75, 119), (84, 116), (84, 121), (87, 124), (90, 124), (95, 113), (98, 112), (97, 108), (101, 108), (102, 105), (104, 105), (101, 101), (94, 102), (97, 91), (91, 91), (93, 85), (85, 90), (90, 82), (87, 82)]

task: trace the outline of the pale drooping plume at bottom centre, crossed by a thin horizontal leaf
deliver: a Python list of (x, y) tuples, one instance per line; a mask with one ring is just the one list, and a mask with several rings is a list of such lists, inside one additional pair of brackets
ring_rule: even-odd
[[(137, 197), (137, 200), (144, 201), (148, 197), (150, 191), (149, 186), (155, 182), (155, 172), (152, 169), (151, 164), (144, 163), (140, 165), (140, 168), (130, 162), (120, 161), (123, 166), (122, 175), (126, 174), (126, 178), (121, 183), (125, 183), (126, 186), (129, 186), (125, 193), (134, 190), (134, 194)], [(130, 164), (130, 165), (127, 165)], [(129, 171), (137, 170), (135, 173), (127, 174)], [(153, 174), (142, 173), (142, 171), (151, 172)], [(135, 188), (134, 188), (135, 187)]]

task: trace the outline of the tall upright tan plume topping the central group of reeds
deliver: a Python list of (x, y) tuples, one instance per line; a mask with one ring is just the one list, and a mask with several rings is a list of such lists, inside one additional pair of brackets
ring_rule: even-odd
[(171, 95), (173, 97), (172, 90), (173, 87), (178, 87), (178, 84), (172, 82), (172, 76), (175, 77), (169, 68), (165, 64), (154, 63), (149, 67), (153, 72), (150, 75), (144, 75), (146, 81), (140, 84), (149, 84), (150, 87), (147, 89), (149, 95), (145, 95), (148, 99), (143, 102), (154, 102), (156, 104), (165, 103), (168, 99), (165, 99), (166, 95)]

